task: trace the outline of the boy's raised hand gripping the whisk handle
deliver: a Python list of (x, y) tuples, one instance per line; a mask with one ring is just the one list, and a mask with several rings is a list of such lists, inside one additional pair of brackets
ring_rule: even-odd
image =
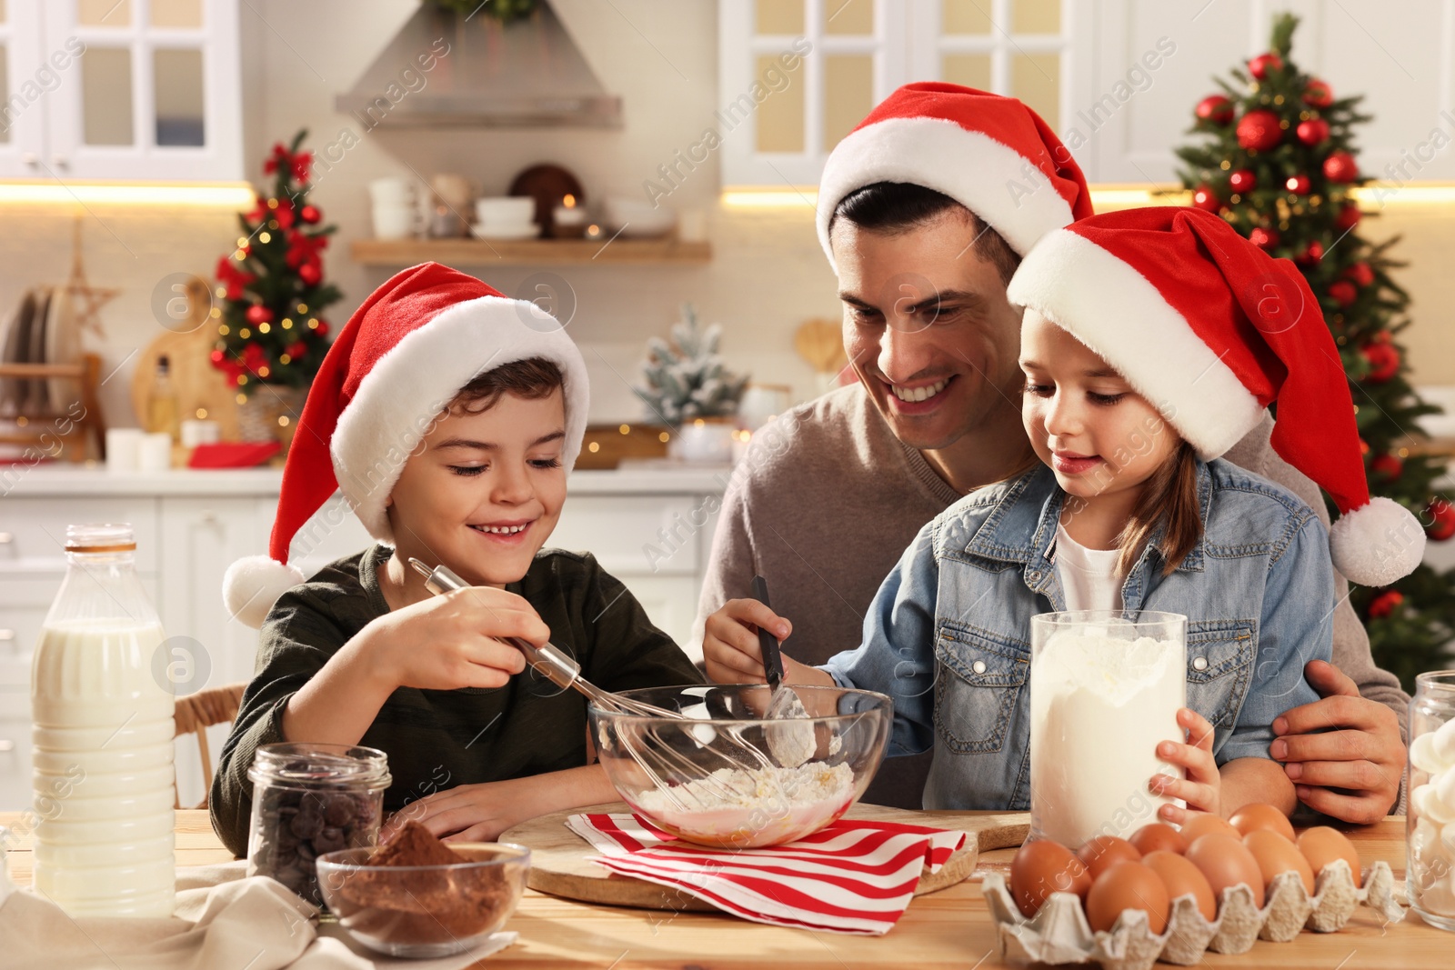
[(453, 691), (503, 686), (525, 669), (525, 656), (498, 637), (537, 646), (550, 628), (524, 598), (492, 586), (469, 586), (375, 620), (370, 659), (396, 686)]

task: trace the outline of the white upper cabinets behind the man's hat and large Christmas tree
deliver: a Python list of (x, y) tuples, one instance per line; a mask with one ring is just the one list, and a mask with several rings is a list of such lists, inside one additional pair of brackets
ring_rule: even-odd
[(1366, 175), (1455, 179), (1455, 0), (733, 0), (719, 4), (723, 185), (818, 183), (874, 103), (925, 80), (1020, 97), (1088, 182), (1176, 182), (1193, 106), (1267, 49), (1280, 10), (1301, 17), (1305, 71), (1366, 95)]

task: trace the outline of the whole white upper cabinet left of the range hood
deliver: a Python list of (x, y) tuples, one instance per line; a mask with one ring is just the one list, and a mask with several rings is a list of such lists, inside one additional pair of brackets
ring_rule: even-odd
[(243, 177), (237, 0), (0, 4), (0, 177)]

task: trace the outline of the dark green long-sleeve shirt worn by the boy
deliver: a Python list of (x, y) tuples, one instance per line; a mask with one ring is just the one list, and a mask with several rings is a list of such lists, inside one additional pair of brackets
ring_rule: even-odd
[[(236, 855), (247, 852), (259, 745), (287, 740), (288, 698), (371, 620), (388, 612), (377, 570), (390, 550), (375, 545), (323, 567), (284, 593), (263, 624), (258, 673), (212, 781), (212, 827)], [(701, 675), (642, 605), (589, 554), (543, 550), (506, 589), (550, 627), (551, 643), (608, 691), (698, 684)], [(359, 740), (388, 755), (393, 782), (384, 810), (460, 784), (503, 781), (586, 763), (586, 701), (527, 669), (502, 688), (394, 691)]]

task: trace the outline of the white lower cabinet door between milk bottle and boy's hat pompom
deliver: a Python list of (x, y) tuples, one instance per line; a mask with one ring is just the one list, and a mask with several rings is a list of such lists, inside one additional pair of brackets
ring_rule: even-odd
[(162, 499), (162, 625), (185, 681), (178, 694), (253, 676), (258, 631), (223, 606), (223, 573), (243, 556), (266, 548), (259, 540), (256, 497)]

